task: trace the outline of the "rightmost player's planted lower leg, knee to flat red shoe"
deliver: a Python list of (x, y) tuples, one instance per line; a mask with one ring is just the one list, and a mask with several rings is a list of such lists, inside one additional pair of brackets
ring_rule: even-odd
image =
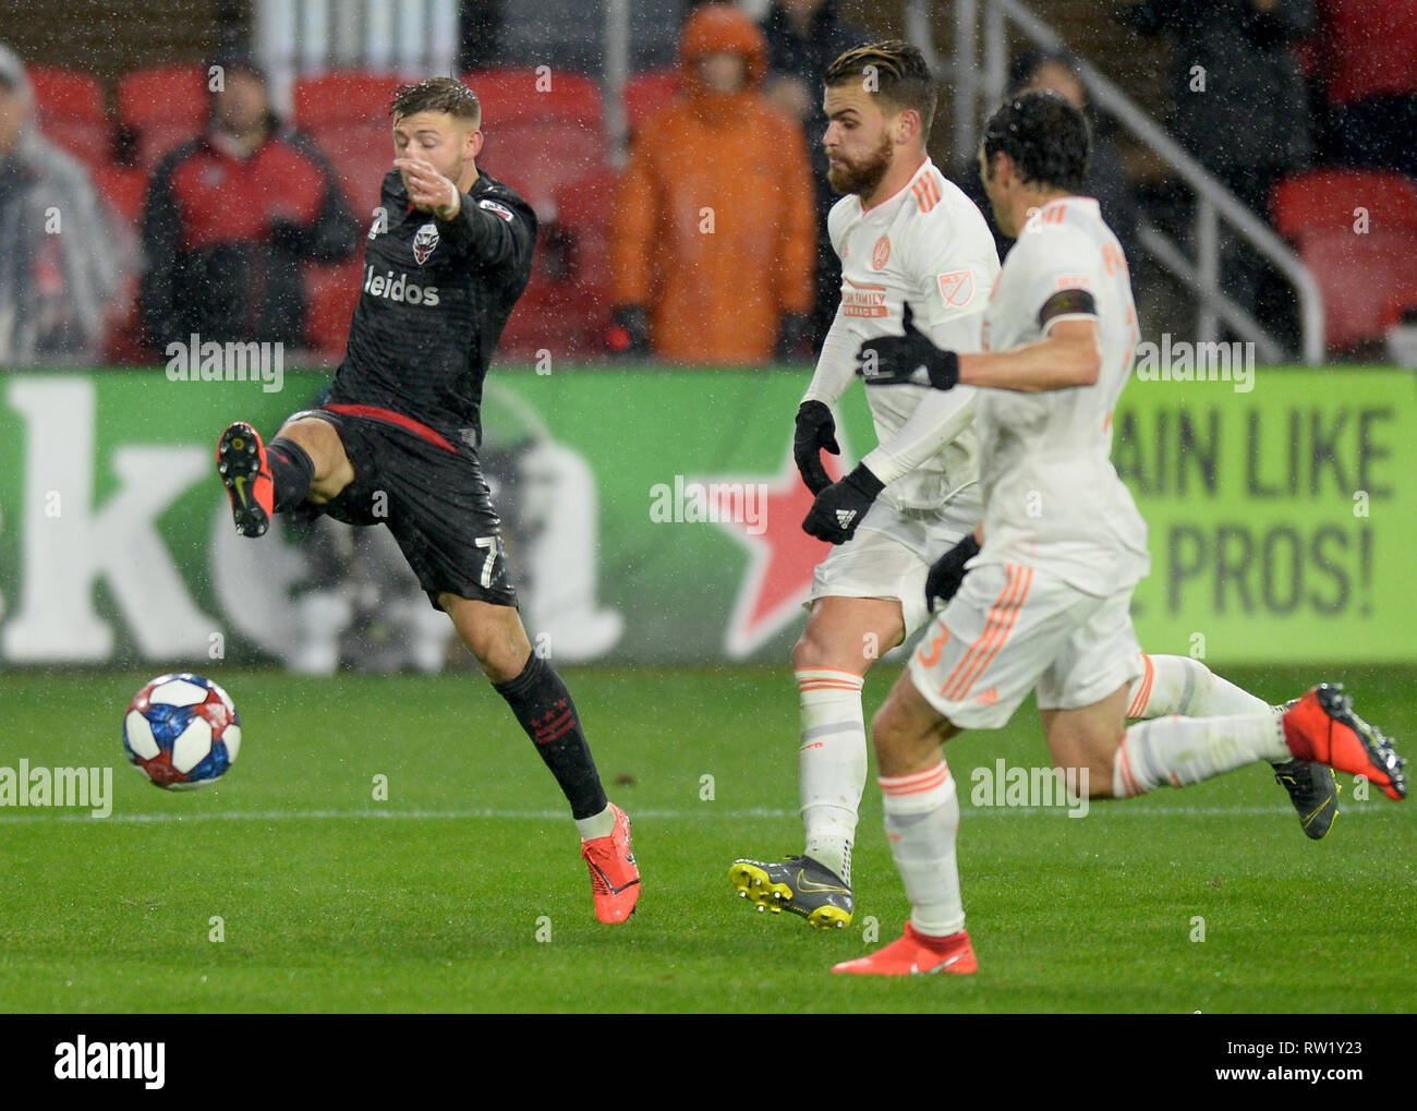
[(941, 744), (958, 730), (921, 697), (907, 672), (871, 721), (886, 808), (886, 838), (905, 883), (904, 935), (833, 972), (914, 975), (978, 971), (959, 896), (955, 833), (959, 796)]

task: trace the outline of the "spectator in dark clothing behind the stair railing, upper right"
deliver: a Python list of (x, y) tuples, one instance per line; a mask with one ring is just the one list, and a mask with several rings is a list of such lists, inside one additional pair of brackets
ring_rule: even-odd
[[(1314, 153), (1308, 89), (1295, 44), (1318, 23), (1314, 0), (1142, 0), (1142, 34), (1175, 43), (1170, 128), (1231, 193), (1268, 220), (1270, 194)], [(1254, 312), (1264, 262), (1233, 237), (1221, 283)]]

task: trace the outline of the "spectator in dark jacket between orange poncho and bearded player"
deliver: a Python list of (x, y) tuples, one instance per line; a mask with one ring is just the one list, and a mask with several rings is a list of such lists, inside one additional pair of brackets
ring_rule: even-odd
[(762, 21), (768, 40), (767, 98), (795, 119), (806, 133), (816, 187), (816, 295), (811, 332), (812, 351), (822, 347), (842, 299), (842, 261), (826, 234), (826, 217), (837, 196), (826, 180), (826, 113), (822, 111), (822, 74), (852, 47), (869, 41), (836, 11), (836, 0), (777, 0)]

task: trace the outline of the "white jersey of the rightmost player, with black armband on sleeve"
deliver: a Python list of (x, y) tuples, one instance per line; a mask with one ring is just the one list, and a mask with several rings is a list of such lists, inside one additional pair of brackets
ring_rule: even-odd
[(1095, 597), (1132, 587), (1151, 570), (1146, 523), (1111, 462), (1112, 408), (1131, 377), (1136, 308), (1127, 259), (1090, 197), (1064, 197), (1030, 218), (985, 310), (985, 347), (1044, 339), (1040, 310), (1081, 289), (1094, 308), (1053, 316), (1098, 322), (1095, 385), (1043, 393), (978, 390), (983, 550), (971, 561), (1037, 567)]

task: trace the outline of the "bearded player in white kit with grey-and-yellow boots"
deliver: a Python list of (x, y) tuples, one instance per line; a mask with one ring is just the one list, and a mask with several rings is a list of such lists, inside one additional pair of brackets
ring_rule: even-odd
[(828, 227), (842, 259), (842, 303), (798, 411), (794, 455), (818, 496), (803, 527), (837, 547), (816, 568), (806, 629), (792, 650), (801, 696), (799, 788), (805, 852), (738, 860), (730, 880), (760, 908), (813, 925), (852, 920), (852, 845), (866, 785), (862, 686), (876, 659), (930, 618), (931, 561), (979, 520), (973, 391), (922, 387), (869, 395), (879, 446), (837, 483), (836, 405), (863, 340), (898, 327), (903, 306), (942, 346), (979, 349), (999, 256), (983, 215), (925, 154), (935, 86), (920, 51), (876, 43), (823, 77), (823, 145), (843, 193)]

